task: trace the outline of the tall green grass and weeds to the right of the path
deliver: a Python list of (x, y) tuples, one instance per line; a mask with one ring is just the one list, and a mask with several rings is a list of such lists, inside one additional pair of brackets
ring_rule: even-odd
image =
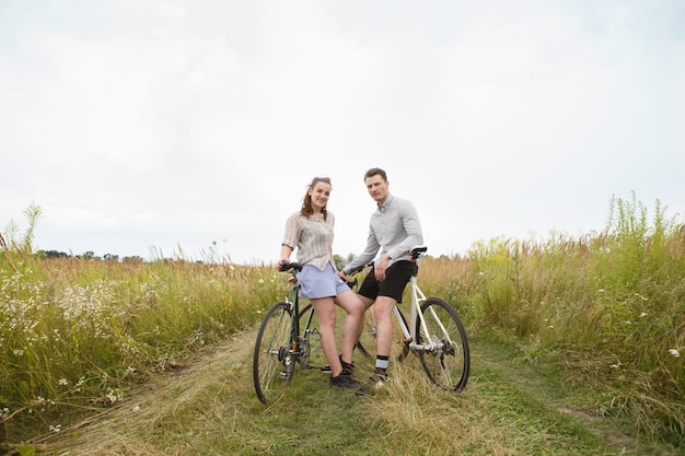
[(685, 227), (659, 201), (650, 220), (632, 195), (612, 200), (600, 233), (478, 242), (456, 268), (425, 261), (422, 282), (472, 327), (497, 328), (522, 358), (562, 367), (569, 384), (595, 393), (597, 413), (681, 442), (684, 253)]

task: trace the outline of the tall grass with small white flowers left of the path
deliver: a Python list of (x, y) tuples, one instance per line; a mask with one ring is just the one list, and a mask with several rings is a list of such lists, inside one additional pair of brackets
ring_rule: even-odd
[(60, 431), (153, 372), (253, 326), (286, 288), (267, 266), (45, 259), (2, 239), (0, 441)]

